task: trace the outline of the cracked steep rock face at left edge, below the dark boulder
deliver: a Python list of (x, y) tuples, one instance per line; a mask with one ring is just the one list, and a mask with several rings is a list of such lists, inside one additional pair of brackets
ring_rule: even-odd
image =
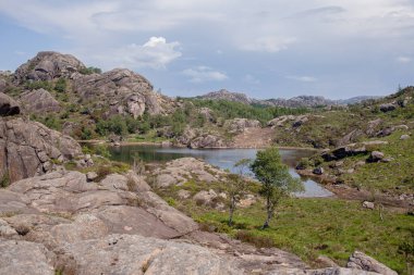
[(40, 123), (0, 120), (0, 177), (8, 174), (11, 183), (42, 175), (53, 168), (53, 162), (80, 155), (74, 139)]

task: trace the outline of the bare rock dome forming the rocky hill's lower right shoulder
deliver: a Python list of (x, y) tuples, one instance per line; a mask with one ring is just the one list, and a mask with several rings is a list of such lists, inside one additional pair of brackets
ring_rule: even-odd
[(172, 104), (172, 99), (154, 92), (146, 78), (126, 68), (77, 77), (74, 88), (83, 101), (109, 104), (112, 114), (130, 114), (134, 118), (145, 111), (167, 113)]

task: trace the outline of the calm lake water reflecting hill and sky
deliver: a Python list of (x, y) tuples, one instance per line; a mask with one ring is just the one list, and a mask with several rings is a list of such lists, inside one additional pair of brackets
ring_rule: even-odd
[[(205, 160), (211, 165), (233, 171), (234, 164), (242, 159), (254, 159), (256, 149), (187, 149), (187, 148), (162, 148), (156, 146), (122, 146), (110, 147), (111, 159), (133, 163), (133, 158), (138, 157), (145, 162), (167, 162), (179, 158), (193, 157)], [(283, 162), (289, 165), (290, 173), (300, 177), (294, 166), (301, 158), (310, 157), (312, 151), (306, 150), (280, 150)], [(305, 192), (297, 197), (329, 197), (330, 191), (308, 178), (301, 178)]]

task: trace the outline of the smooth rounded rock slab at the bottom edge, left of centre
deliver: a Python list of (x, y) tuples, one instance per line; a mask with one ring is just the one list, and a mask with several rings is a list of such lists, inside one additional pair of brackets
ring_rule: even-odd
[[(62, 267), (76, 274), (242, 274), (233, 261), (176, 241), (110, 235), (66, 246)], [(134, 257), (131, 257), (134, 255)]]

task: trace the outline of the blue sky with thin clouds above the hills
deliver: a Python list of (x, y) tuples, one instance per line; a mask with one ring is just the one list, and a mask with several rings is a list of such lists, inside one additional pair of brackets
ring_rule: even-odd
[(414, 85), (414, 0), (0, 0), (0, 70), (38, 51), (168, 96), (345, 99)]

